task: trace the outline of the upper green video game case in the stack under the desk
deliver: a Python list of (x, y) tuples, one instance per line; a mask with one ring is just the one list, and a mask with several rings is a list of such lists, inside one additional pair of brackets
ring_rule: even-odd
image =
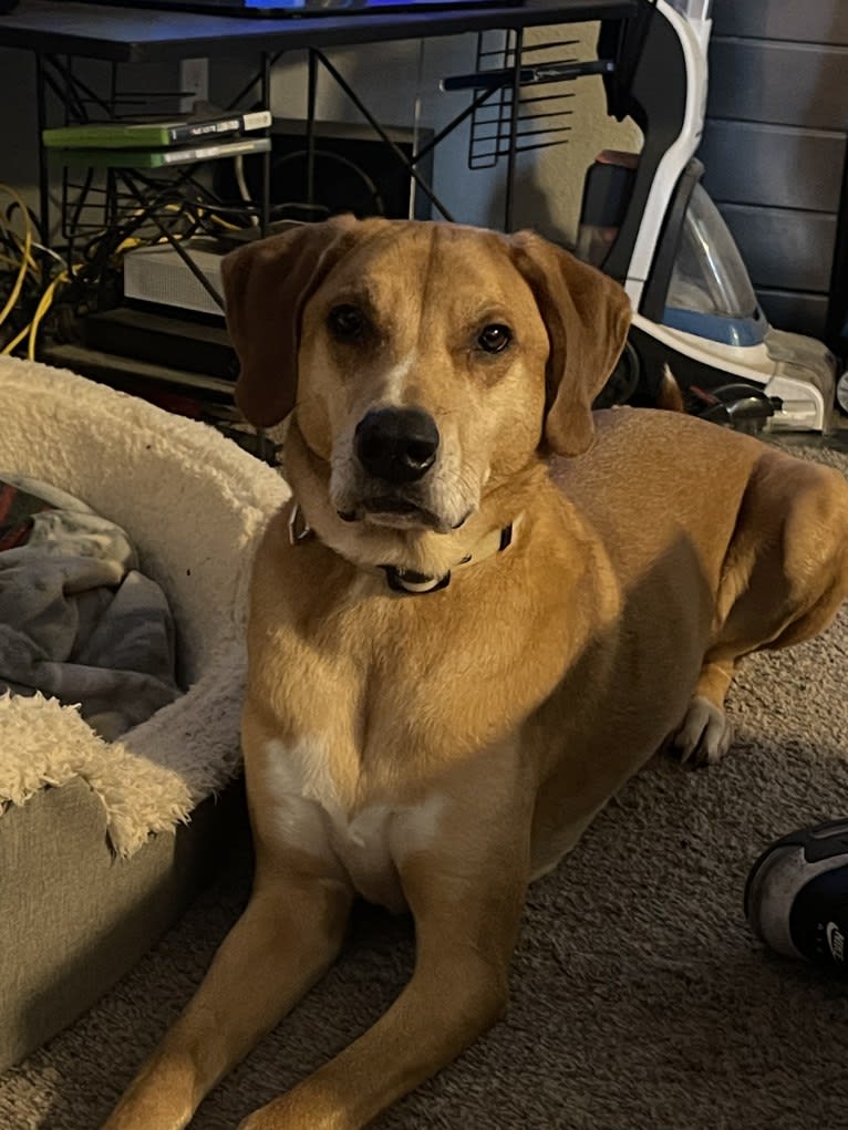
[(226, 133), (250, 133), (270, 124), (269, 110), (254, 110), (215, 118), (60, 125), (43, 130), (42, 141), (47, 149), (155, 149)]

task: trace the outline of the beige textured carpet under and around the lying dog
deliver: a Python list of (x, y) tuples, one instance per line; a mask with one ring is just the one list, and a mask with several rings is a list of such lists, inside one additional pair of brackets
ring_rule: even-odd
[[(699, 771), (657, 759), (630, 783), (533, 887), (509, 1018), (377, 1124), (848, 1125), (848, 982), (764, 951), (742, 914), (770, 840), (848, 816), (847, 671), (848, 608), (820, 640), (752, 660), (727, 759)], [(96, 1009), (0, 1078), (0, 1127), (97, 1127), (234, 920), (244, 858)], [(232, 1128), (321, 1063), (387, 1007), (410, 962), (408, 923), (363, 909), (331, 974), (192, 1125)]]

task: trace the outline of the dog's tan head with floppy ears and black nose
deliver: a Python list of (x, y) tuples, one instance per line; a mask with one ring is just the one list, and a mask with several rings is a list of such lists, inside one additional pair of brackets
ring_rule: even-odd
[(445, 532), (540, 445), (591, 443), (623, 348), (622, 288), (540, 237), (344, 216), (224, 260), (236, 398), (296, 406), (338, 513)]

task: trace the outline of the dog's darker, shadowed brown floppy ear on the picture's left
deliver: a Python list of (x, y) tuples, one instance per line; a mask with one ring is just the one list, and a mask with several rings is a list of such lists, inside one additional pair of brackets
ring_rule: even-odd
[(303, 304), (353, 242), (349, 215), (257, 240), (222, 262), (230, 337), (241, 372), (235, 401), (257, 427), (278, 424), (297, 395)]

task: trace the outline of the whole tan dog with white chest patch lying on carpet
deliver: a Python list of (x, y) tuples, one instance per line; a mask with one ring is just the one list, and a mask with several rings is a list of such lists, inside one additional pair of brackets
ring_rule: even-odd
[(295, 407), (253, 575), (256, 883), (107, 1125), (184, 1127), (361, 893), (412, 911), (409, 984), (242, 1123), (353, 1130), (502, 1015), (528, 883), (669, 736), (727, 749), (741, 657), (830, 621), (848, 488), (690, 417), (592, 418), (628, 301), (531, 234), (339, 218), (224, 280), (246, 416)]

